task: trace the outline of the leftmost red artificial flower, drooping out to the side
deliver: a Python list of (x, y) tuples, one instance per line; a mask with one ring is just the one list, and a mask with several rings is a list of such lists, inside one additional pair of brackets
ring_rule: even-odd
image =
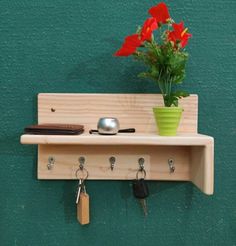
[(133, 34), (125, 38), (122, 47), (116, 51), (115, 56), (129, 56), (132, 55), (136, 49), (141, 45), (142, 41), (138, 34)]

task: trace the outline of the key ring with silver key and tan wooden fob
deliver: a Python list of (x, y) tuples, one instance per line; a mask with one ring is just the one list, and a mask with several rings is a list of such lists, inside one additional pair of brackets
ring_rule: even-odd
[[(78, 189), (77, 189), (77, 196), (76, 196), (76, 205), (77, 205), (77, 220), (80, 222), (81, 225), (89, 224), (89, 195), (86, 192), (85, 188), (85, 180), (88, 177), (88, 171), (84, 168), (83, 170), (86, 171), (85, 178), (79, 178)], [(76, 171), (76, 177), (78, 178), (78, 172), (81, 169)]]

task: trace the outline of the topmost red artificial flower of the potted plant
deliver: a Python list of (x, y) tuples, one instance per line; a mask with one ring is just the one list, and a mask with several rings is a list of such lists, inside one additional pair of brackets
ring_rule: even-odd
[(168, 19), (170, 19), (170, 14), (168, 11), (168, 7), (165, 3), (161, 2), (156, 6), (149, 9), (148, 13), (154, 17), (157, 23), (166, 24)]

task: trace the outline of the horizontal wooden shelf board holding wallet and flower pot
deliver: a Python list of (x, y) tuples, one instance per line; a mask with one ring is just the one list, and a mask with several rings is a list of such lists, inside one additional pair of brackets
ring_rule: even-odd
[(22, 144), (204, 146), (213, 142), (212, 137), (202, 134), (179, 134), (174, 137), (138, 133), (119, 133), (110, 136), (98, 134), (73, 136), (25, 134), (21, 136)]

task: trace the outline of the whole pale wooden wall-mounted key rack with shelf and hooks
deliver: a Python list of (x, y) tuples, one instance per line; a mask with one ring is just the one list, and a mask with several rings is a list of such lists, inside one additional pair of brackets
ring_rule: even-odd
[[(82, 157), (88, 179), (131, 180), (142, 158), (147, 180), (191, 181), (213, 194), (214, 139), (197, 133), (197, 95), (180, 100), (184, 112), (174, 137), (157, 134), (156, 105), (162, 105), (159, 94), (39, 94), (39, 124), (82, 124), (85, 132), (25, 134), (21, 143), (38, 144), (39, 179), (77, 179)], [(121, 128), (136, 128), (136, 133), (89, 134), (104, 116), (118, 118)]]

